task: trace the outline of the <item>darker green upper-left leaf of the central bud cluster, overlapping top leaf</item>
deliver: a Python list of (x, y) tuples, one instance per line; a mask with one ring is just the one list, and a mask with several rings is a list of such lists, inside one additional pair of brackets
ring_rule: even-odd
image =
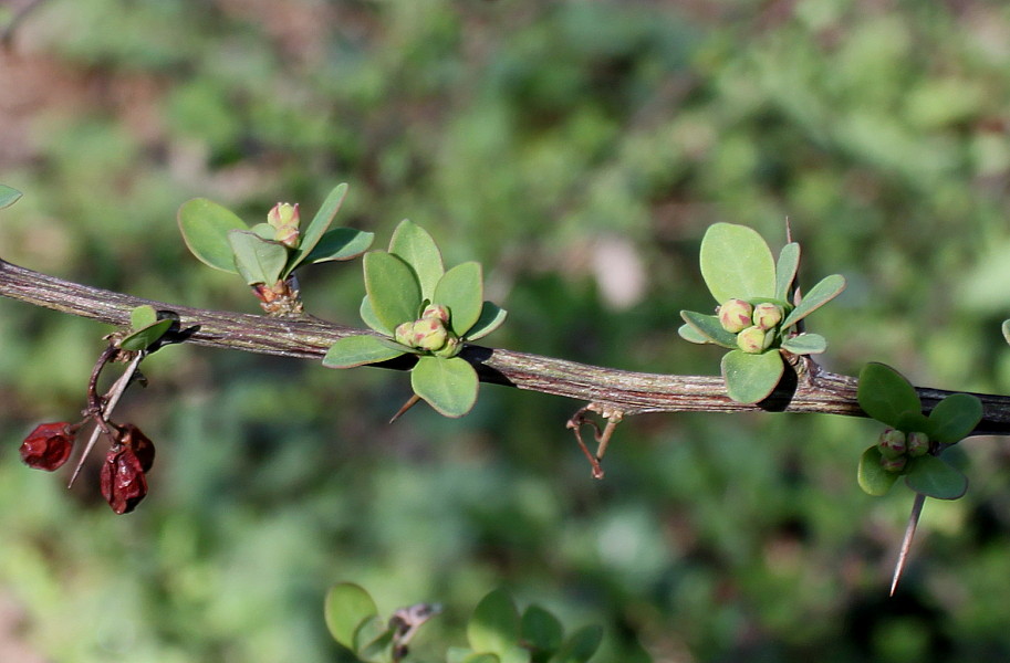
[(420, 313), (417, 276), (403, 259), (385, 251), (366, 253), (364, 263), (372, 312), (392, 336), (398, 325), (413, 322)]

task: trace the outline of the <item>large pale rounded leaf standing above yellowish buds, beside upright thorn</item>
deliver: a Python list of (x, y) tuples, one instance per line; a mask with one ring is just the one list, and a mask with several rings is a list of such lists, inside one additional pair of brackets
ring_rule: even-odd
[(758, 232), (746, 225), (716, 223), (701, 240), (701, 276), (716, 302), (775, 294), (775, 262)]

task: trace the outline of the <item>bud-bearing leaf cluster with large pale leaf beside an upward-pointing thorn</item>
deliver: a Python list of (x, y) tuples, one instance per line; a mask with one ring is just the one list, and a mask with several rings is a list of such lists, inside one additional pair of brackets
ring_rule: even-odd
[(716, 223), (701, 241), (700, 262), (701, 276), (719, 307), (716, 315), (681, 311), (685, 324), (679, 334), (691, 343), (730, 350), (721, 368), (731, 399), (753, 403), (768, 397), (785, 369), (783, 351), (815, 355), (827, 348), (823, 336), (802, 333), (798, 324), (836, 297), (845, 278), (833, 274), (796, 297), (798, 243), (787, 244), (775, 261), (757, 231)]

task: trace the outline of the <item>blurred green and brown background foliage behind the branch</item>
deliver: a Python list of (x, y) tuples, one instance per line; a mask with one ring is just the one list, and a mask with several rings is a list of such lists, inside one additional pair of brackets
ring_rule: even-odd
[[(993, 0), (9, 0), (0, 25), (0, 256), (174, 304), (257, 312), (190, 256), (192, 197), (249, 222), (278, 201), (385, 245), (403, 218), (485, 264), (510, 311), (487, 344), (633, 370), (718, 373), (677, 337), (715, 306), (717, 221), (784, 243), (825, 366), (1010, 391), (1010, 7)], [(357, 324), (361, 263), (301, 272)], [(117, 419), (150, 436), (150, 494), (117, 517), (91, 465), (66, 491), (20, 440), (74, 419), (112, 329), (0, 301), (3, 661), (348, 661), (331, 583), (385, 613), (437, 601), (421, 661), (462, 644), (494, 587), (596, 661), (1006, 661), (1010, 453), (972, 439), (886, 598), (912, 504), (855, 483), (879, 427), (831, 415), (648, 415), (594, 481), (582, 403), (485, 387), (458, 421), (406, 376), (177, 346)], [(98, 455), (93, 461), (98, 460)], [(6, 648), (6, 649), (2, 649)]]

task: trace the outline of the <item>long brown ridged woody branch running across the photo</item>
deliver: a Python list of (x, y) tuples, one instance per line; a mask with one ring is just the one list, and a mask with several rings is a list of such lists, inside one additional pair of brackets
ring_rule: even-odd
[[(305, 318), (207, 311), (134, 297), (123, 293), (72, 283), (0, 260), (0, 295), (117, 327), (129, 325), (129, 313), (148, 304), (175, 312), (183, 328), (195, 327), (186, 339), (201, 346), (322, 359), (339, 338), (371, 332)], [(785, 378), (760, 403), (731, 400), (717, 376), (676, 376), (618, 370), (525, 352), (467, 346), (460, 355), (470, 361), (481, 381), (551, 393), (596, 403), (601, 410), (624, 415), (645, 412), (816, 412), (865, 417), (856, 401), (856, 379), (818, 369), (787, 370)], [(406, 370), (413, 358), (378, 365)], [(954, 393), (916, 387), (928, 412)], [(985, 415), (972, 434), (1010, 434), (1010, 397), (976, 393)]]

